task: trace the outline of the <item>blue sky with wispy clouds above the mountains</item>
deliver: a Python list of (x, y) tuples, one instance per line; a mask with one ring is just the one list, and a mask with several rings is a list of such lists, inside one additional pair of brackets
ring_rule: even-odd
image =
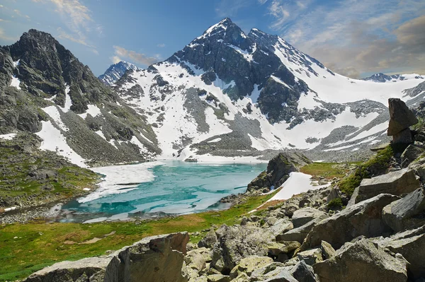
[(351, 77), (425, 74), (423, 0), (3, 0), (0, 45), (51, 33), (99, 75), (120, 59), (166, 59), (222, 18), (278, 34)]

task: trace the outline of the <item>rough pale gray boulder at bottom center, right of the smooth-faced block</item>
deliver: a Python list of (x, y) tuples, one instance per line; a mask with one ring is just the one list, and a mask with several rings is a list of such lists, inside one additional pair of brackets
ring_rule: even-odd
[(275, 240), (270, 231), (254, 225), (222, 225), (216, 234), (210, 265), (222, 274), (229, 274), (244, 257), (266, 256), (268, 245)]

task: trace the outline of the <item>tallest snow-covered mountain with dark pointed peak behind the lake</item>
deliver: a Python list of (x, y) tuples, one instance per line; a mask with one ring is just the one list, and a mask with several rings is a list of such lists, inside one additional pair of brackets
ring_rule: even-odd
[(251, 160), (295, 148), (342, 160), (388, 141), (387, 99), (423, 99), (403, 92), (422, 81), (347, 78), (276, 35), (255, 28), (246, 35), (225, 18), (113, 88), (145, 114), (164, 158)]

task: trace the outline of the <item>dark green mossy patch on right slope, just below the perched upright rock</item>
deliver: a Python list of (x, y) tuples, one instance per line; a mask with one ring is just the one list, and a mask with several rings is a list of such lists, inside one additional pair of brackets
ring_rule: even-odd
[(390, 159), (394, 155), (395, 150), (392, 146), (387, 146), (367, 162), (358, 165), (358, 168), (351, 175), (348, 175), (339, 182), (338, 186), (341, 192), (351, 196), (363, 178), (370, 178), (373, 175), (385, 173), (390, 166)]

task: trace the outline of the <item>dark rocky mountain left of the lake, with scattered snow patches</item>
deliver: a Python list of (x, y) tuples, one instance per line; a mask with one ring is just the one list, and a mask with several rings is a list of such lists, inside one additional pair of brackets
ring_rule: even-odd
[(161, 152), (145, 117), (38, 30), (0, 47), (0, 134), (20, 131), (38, 135), (40, 148), (80, 166), (146, 160)]

